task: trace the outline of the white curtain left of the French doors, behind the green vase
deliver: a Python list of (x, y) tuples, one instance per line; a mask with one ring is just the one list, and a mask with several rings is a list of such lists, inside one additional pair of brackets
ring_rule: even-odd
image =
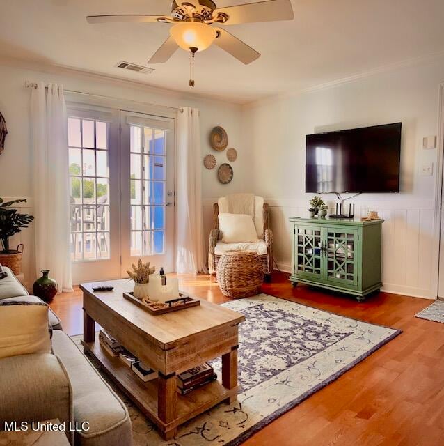
[(35, 267), (72, 291), (68, 136), (63, 86), (31, 90)]

